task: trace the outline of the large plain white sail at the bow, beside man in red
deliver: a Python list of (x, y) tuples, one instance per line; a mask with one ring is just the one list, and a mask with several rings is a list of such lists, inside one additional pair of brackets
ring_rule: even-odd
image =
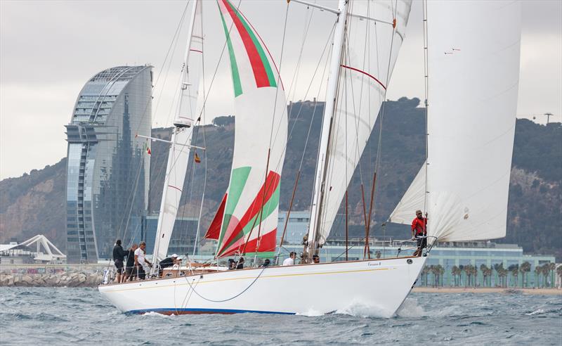
[[(391, 214), (423, 209), (440, 241), (505, 236), (513, 151), (521, 3), (428, 1), (427, 167)], [(427, 172), (425, 174), (425, 170)], [(405, 217), (410, 213), (410, 218)]]

